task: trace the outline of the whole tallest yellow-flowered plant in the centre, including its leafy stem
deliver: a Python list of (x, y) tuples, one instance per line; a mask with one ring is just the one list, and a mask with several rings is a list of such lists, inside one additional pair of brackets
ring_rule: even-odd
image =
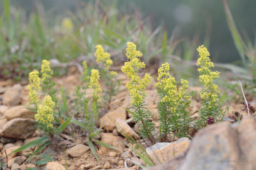
[(124, 63), (121, 70), (126, 73), (127, 78), (130, 79), (126, 83), (126, 87), (130, 90), (130, 96), (132, 102), (131, 108), (134, 109), (133, 119), (138, 124), (138, 129), (140, 129), (140, 137), (146, 138), (152, 143), (155, 143), (155, 138), (152, 135), (152, 131), (155, 129), (155, 124), (149, 121), (151, 117), (151, 112), (146, 109), (144, 99), (147, 96), (147, 91), (145, 90), (152, 80), (150, 74), (146, 73), (143, 79), (138, 76), (139, 69), (145, 68), (144, 62), (140, 62), (139, 57), (142, 56), (140, 51), (136, 50), (136, 45), (132, 42), (127, 42), (126, 56), (128, 61)]

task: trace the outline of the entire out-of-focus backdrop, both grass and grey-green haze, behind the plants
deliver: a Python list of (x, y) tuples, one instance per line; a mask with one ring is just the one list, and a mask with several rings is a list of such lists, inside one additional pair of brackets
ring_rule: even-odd
[[(143, 53), (146, 65), (157, 69), (169, 62), (173, 74), (183, 78), (195, 76), (196, 69), (189, 66), (195, 66), (196, 49), (204, 45), (213, 62), (243, 68), (217, 67), (240, 77), (250, 71), (252, 76), (246, 78), (256, 81), (256, 1), (227, 0), (241, 34), (236, 41), (224, 1), (0, 0), (0, 78), (20, 80), (37, 69), (42, 59), (95, 64), (97, 44), (111, 53), (114, 64), (122, 65), (129, 41)], [(66, 73), (62, 66), (58, 68), (59, 75)]]

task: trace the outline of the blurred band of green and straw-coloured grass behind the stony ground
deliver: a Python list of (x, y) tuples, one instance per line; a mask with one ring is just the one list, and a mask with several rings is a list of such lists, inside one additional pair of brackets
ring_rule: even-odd
[(9, 0), (3, 0), (0, 77), (19, 80), (38, 68), (43, 59), (68, 62), (82, 57), (94, 62), (97, 44), (103, 44), (119, 63), (125, 60), (128, 41), (137, 45), (146, 63), (152, 57), (165, 60), (166, 55), (173, 53), (180, 42), (174, 33), (168, 39), (163, 25), (152, 29), (152, 19), (142, 19), (137, 9), (130, 13), (117, 12), (117, 2), (76, 4), (75, 12), (66, 11), (52, 18), (40, 2), (35, 4), (35, 12), (27, 16), (24, 9), (16, 9)]

